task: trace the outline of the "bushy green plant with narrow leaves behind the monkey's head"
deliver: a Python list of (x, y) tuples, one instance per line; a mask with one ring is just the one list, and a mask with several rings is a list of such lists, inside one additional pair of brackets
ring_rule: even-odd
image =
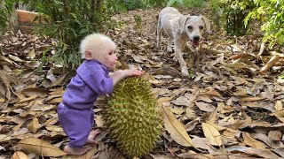
[(93, 32), (104, 33), (115, 27), (111, 17), (126, 11), (120, 3), (115, 0), (23, 0), (23, 4), (30, 5), (51, 20), (51, 25), (36, 27), (36, 34), (59, 41), (58, 51), (51, 59), (71, 70), (82, 62), (78, 50), (84, 36)]

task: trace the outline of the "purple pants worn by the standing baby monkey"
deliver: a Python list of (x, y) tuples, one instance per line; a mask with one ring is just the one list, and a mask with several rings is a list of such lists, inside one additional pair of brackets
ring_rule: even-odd
[(82, 148), (94, 125), (94, 111), (67, 108), (63, 103), (58, 106), (59, 123), (69, 138), (70, 148)]

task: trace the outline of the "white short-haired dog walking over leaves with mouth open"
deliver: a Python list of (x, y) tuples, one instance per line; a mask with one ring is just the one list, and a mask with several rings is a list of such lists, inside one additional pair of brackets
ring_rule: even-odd
[(204, 28), (210, 33), (209, 19), (203, 16), (183, 15), (173, 7), (162, 9), (157, 27), (157, 49), (161, 48), (162, 30), (169, 36), (167, 51), (172, 52), (171, 44), (175, 45), (175, 57), (184, 75), (189, 75), (183, 58), (182, 50), (186, 42), (191, 42), (193, 48), (199, 47)]

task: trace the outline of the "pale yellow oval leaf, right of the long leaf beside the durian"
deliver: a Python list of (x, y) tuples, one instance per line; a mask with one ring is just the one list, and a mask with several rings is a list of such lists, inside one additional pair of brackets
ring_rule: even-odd
[(215, 127), (207, 123), (202, 123), (202, 130), (210, 144), (214, 146), (222, 145), (221, 134), (217, 131), (217, 129), (215, 129)]

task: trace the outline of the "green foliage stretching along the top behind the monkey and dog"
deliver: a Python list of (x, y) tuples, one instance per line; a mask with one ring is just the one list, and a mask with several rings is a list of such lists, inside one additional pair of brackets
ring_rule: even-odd
[(51, 25), (36, 27), (36, 34), (59, 41), (58, 51), (51, 60), (71, 70), (82, 62), (78, 50), (85, 35), (118, 27), (121, 22), (111, 19), (117, 13), (156, 6), (202, 8), (210, 4), (210, 10), (220, 16), (228, 34), (247, 34), (249, 21), (258, 20), (265, 42), (271, 45), (284, 42), (284, 0), (5, 0), (4, 3), (0, 29), (6, 27), (7, 17), (16, 3), (42, 13)]

